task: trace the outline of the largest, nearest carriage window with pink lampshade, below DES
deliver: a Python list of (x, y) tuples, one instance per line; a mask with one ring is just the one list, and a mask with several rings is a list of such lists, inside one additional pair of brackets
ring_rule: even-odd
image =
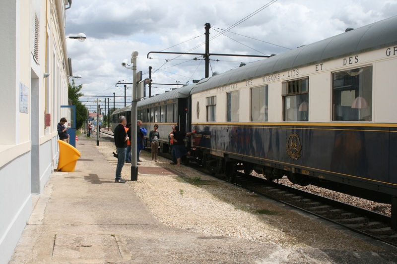
[(372, 66), (332, 73), (332, 121), (372, 120)]

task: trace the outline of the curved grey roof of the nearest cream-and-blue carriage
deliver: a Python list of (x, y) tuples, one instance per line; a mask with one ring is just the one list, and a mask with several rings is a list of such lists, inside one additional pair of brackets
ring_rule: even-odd
[(397, 16), (201, 80), (192, 94), (397, 44)]

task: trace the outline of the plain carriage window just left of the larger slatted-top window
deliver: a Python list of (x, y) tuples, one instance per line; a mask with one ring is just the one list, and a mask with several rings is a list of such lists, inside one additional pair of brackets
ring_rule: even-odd
[(251, 89), (251, 121), (267, 121), (268, 85)]

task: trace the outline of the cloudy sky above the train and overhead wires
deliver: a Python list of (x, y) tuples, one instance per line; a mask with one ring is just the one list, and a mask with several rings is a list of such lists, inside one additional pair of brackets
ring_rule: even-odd
[[(137, 70), (144, 78), (152, 66), (153, 82), (170, 84), (153, 85), (152, 94), (203, 78), (205, 63), (199, 55), (152, 53), (151, 59), (146, 55), (159, 51), (204, 53), (205, 23), (211, 24), (210, 37), (214, 37), (268, 3), (262, 11), (210, 40), (210, 53), (284, 53), (341, 34), (348, 27), (358, 28), (397, 14), (397, 0), (74, 0), (66, 10), (66, 35), (81, 32), (87, 40), (67, 39), (67, 52), (73, 75), (82, 76), (76, 84), (83, 84), (84, 95), (93, 96), (80, 101), (108, 96), (113, 106), (113, 93), (124, 96), (124, 86), (116, 87), (116, 83), (132, 82), (132, 70), (121, 66), (123, 59), (130, 60), (132, 51), (139, 52)], [(260, 58), (210, 59), (211, 76), (213, 71), (222, 73)], [(130, 102), (131, 88), (127, 96)], [(124, 106), (124, 98), (116, 98), (117, 106)]]

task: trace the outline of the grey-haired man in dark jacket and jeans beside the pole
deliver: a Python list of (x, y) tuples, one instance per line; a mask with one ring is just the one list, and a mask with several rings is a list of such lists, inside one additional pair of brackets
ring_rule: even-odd
[(118, 154), (115, 181), (118, 183), (126, 183), (126, 181), (121, 178), (121, 171), (126, 161), (127, 141), (129, 140), (124, 128), (126, 125), (127, 119), (125, 116), (121, 115), (119, 117), (119, 124), (115, 128), (115, 145)]

